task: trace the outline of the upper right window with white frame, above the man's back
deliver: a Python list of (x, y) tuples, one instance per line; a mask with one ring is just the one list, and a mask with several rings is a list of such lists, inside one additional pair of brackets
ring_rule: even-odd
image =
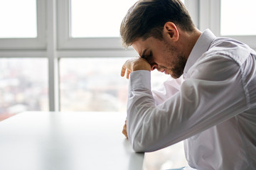
[(256, 49), (255, 22), (251, 19), (256, 14), (254, 0), (199, 0), (198, 6), (200, 30), (210, 28), (217, 36), (234, 38)]

